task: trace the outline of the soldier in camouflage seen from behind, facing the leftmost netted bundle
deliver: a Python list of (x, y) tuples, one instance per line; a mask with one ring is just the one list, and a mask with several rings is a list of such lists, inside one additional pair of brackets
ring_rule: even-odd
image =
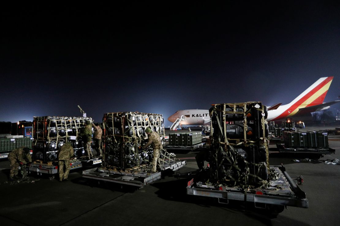
[[(70, 172), (70, 158), (74, 155), (74, 151), (71, 142), (67, 142), (61, 146), (59, 150), (58, 160), (59, 160), (59, 180), (67, 181), (68, 173)], [(65, 173), (64, 173), (65, 164)]]

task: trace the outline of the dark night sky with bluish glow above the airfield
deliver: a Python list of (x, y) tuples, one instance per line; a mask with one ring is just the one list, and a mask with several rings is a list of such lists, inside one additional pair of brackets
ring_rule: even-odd
[(287, 104), (327, 76), (338, 100), (339, 3), (115, 2), (2, 5), (0, 121)]

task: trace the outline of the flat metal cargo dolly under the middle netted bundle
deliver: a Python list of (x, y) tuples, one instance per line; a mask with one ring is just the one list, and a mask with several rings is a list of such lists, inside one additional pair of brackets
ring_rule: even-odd
[[(186, 161), (165, 160), (161, 172), (171, 169), (175, 171), (186, 165)], [(161, 178), (161, 172), (148, 174), (146, 166), (135, 167), (133, 169), (126, 169), (125, 171), (107, 170), (103, 168), (93, 168), (83, 171), (83, 178), (107, 181), (125, 185), (132, 185), (136, 187), (145, 187), (146, 185), (157, 181)]]

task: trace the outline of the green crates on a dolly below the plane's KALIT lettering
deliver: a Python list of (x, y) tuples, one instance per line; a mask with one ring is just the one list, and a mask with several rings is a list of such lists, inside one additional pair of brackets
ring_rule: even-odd
[(201, 133), (170, 133), (169, 145), (194, 145), (202, 143)]

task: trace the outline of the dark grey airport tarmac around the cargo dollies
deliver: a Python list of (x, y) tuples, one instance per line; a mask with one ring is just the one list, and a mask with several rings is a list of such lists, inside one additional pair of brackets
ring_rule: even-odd
[[(312, 129), (334, 127), (305, 128)], [(340, 159), (340, 136), (330, 135), (329, 139), (329, 146), (336, 150), (336, 154), (325, 155), (320, 160)], [(294, 162), (296, 156), (281, 156), (273, 145), (270, 147), (273, 150), (270, 153), (271, 166), (283, 163), (291, 178), (304, 177), (301, 189), (306, 192), (309, 208), (288, 207), (272, 216), (251, 205), (245, 209), (242, 202), (218, 204), (215, 199), (187, 195), (187, 182), (198, 169), (194, 160), (198, 151), (175, 152), (177, 158), (186, 158), (187, 165), (175, 172), (165, 172), (161, 180), (141, 189), (87, 180), (81, 177), (81, 170), (71, 170), (66, 182), (50, 181), (46, 176), (30, 176), (31, 181), (40, 180), (11, 185), (5, 183), (9, 163), (1, 160), (0, 224), (338, 225), (340, 165), (319, 161)], [(187, 172), (193, 173), (188, 176)]]

